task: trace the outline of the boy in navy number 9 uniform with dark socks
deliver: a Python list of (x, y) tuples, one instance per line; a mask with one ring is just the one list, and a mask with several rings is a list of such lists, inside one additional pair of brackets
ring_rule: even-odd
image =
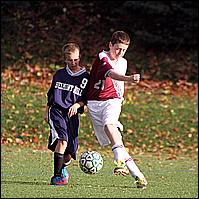
[(63, 46), (65, 67), (53, 75), (45, 120), (50, 125), (48, 148), (54, 152), (52, 185), (66, 185), (69, 173), (66, 166), (76, 160), (78, 149), (79, 115), (86, 104), (89, 74), (80, 66), (79, 45), (70, 42)]

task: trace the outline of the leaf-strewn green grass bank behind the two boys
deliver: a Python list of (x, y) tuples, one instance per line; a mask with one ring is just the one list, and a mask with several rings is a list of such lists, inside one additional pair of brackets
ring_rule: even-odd
[[(37, 81), (37, 80), (35, 80)], [(44, 121), (48, 86), (3, 80), (1, 136), (8, 144), (46, 145), (49, 126)], [(13, 89), (14, 88), (14, 89)], [(163, 91), (127, 90), (120, 121), (126, 146), (134, 152), (197, 153), (196, 97), (174, 96)], [(97, 145), (87, 112), (81, 116), (79, 143)]]

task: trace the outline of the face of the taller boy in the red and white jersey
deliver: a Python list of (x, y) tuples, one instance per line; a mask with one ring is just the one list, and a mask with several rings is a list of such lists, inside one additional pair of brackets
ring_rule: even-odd
[(123, 44), (123, 43), (116, 43), (112, 45), (112, 43), (109, 43), (109, 49), (110, 54), (113, 59), (118, 59), (120, 57), (123, 57), (126, 50), (128, 49), (129, 45)]

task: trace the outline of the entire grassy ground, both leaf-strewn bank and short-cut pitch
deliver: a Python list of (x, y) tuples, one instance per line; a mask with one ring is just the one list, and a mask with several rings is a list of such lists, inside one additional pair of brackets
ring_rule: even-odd
[(86, 112), (80, 120), (78, 157), (85, 150), (97, 150), (104, 167), (87, 175), (74, 161), (69, 184), (54, 187), (49, 185), (53, 154), (46, 150), (49, 126), (43, 120), (48, 85), (22, 74), (20, 81), (9, 70), (2, 75), (2, 198), (197, 198), (197, 96), (172, 95), (164, 87), (127, 91), (122, 135), (146, 175), (146, 190), (135, 188), (130, 176), (113, 175), (111, 148), (99, 147)]

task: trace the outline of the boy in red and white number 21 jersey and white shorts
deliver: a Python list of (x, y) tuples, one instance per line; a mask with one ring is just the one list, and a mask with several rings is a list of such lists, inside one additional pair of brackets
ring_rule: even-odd
[(100, 145), (112, 145), (114, 174), (130, 173), (135, 178), (137, 188), (146, 188), (147, 181), (126, 151), (119, 131), (123, 130), (118, 119), (123, 101), (124, 81), (140, 81), (140, 74), (125, 75), (127, 60), (123, 56), (129, 44), (129, 35), (124, 31), (116, 31), (109, 42), (109, 50), (98, 53), (90, 71), (87, 107)]

